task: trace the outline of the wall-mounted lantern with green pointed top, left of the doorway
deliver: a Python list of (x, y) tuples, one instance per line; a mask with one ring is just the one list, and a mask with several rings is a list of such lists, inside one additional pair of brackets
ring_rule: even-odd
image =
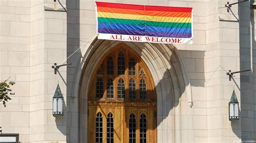
[(63, 95), (60, 91), (59, 84), (55, 90), (55, 94), (52, 97), (52, 115), (53, 116), (63, 116)]

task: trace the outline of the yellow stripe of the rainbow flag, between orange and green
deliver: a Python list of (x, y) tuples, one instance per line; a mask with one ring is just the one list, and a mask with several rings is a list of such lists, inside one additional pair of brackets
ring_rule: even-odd
[(105, 17), (105, 18), (147, 20), (151, 22), (191, 23), (190, 17), (144, 16), (144, 15), (129, 15), (129, 14), (111, 13), (111, 12), (97, 12), (97, 15), (98, 17)]

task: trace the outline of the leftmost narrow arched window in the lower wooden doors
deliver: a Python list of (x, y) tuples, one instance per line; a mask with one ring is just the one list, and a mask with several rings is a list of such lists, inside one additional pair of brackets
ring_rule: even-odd
[(102, 121), (102, 114), (100, 112), (97, 113), (96, 116), (96, 142), (103, 141), (103, 121)]

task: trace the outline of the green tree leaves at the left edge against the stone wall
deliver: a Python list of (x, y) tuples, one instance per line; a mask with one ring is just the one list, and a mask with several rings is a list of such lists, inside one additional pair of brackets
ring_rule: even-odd
[(11, 92), (10, 85), (14, 85), (15, 82), (10, 81), (7, 83), (7, 80), (0, 83), (0, 102), (3, 103), (4, 107), (6, 107), (6, 102), (11, 100), (8, 95), (15, 95), (14, 92)]

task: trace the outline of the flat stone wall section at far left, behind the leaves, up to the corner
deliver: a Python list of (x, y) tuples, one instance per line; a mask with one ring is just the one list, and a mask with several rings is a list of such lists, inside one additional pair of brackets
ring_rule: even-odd
[(0, 105), (3, 133), (19, 133), (29, 142), (30, 117), (30, 1), (0, 1), (0, 80), (10, 77), (15, 95)]

